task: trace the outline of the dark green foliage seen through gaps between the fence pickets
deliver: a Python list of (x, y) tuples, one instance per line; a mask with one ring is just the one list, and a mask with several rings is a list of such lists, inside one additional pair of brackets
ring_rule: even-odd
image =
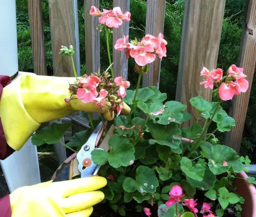
[[(33, 72), (32, 48), (28, 18), (27, 0), (16, 0), (17, 7), (17, 32), (18, 32), (18, 56), (19, 70)], [(217, 66), (226, 70), (230, 64), (237, 63), (243, 19), (245, 13), (244, 0), (226, 0), (226, 8), (223, 20), (221, 44)], [(48, 15), (48, 0), (42, 0), (43, 20), (45, 31), (45, 47), (48, 74), (52, 74), (52, 53), (50, 40), (50, 24)], [(101, 0), (100, 9), (111, 8), (112, 0)], [(83, 0), (78, 0), (79, 10), (79, 31), (80, 31), (80, 58), (81, 72), (85, 73), (85, 33), (84, 33), (84, 10)], [(130, 39), (137, 37), (141, 39), (145, 35), (147, 5), (145, 0), (131, 0), (130, 12), (132, 20), (130, 22)], [(167, 93), (167, 100), (175, 99), (176, 80), (178, 74), (178, 62), (180, 53), (180, 42), (182, 34), (182, 20), (184, 15), (184, 0), (167, 0), (164, 35), (168, 41), (167, 57), (161, 63), (160, 90)], [(106, 42), (103, 34), (101, 40), (101, 68), (107, 68), (108, 58)], [(112, 45), (111, 45), (112, 46)], [(132, 59), (129, 60), (133, 61)], [(128, 80), (132, 88), (136, 84), (137, 74), (134, 73), (134, 64), (128, 67)], [(255, 81), (254, 81), (255, 83)], [(245, 123), (241, 154), (248, 154), (251, 159), (254, 156), (254, 146), (256, 143), (256, 85), (252, 85), (249, 109)], [(224, 105), (228, 110), (228, 103)]]

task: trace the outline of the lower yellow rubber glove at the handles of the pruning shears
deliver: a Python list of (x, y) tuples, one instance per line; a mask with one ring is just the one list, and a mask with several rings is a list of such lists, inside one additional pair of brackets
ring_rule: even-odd
[(104, 199), (95, 190), (106, 184), (105, 178), (96, 176), (18, 188), (10, 194), (11, 217), (89, 217)]

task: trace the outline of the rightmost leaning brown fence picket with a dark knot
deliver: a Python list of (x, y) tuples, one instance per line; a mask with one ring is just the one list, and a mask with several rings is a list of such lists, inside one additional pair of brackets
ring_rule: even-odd
[(250, 98), (252, 80), (256, 66), (256, 1), (248, 0), (245, 15), (245, 23), (241, 38), (239, 57), (237, 62), (239, 67), (244, 68), (244, 74), (247, 75), (249, 88), (247, 92), (241, 93), (232, 99), (229, 115), (236, 120), (236, 127), (226, 133), (225, 145), (235, 149), (240, 149), (243, 136), (243, 128)]

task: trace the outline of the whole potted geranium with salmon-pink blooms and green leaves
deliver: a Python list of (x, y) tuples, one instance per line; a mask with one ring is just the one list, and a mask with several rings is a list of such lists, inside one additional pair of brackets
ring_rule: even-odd
[[(130, 13), (122, 13), (119, 7), (101, 12), (92, 6), (90, 14), (100, 17), (99, 29), (106, 32), (107, 44), (111, 29), (118, 28), (122, 20), (130, 20)], [(95, 206), (93, 216), (256, 216), (255, 178), (244, 172), (245, 165), (250, 164), (248, 156), (240, 157), (232, 148), (219, 144), (214, 135), (235, 126), (221, 103), (247, 90), (243, 69), (232, 65), (223, 74), (220, 68), (203, 68), (200, 84), (214, 89), (214, 101), (208, 102), (201, 96), (191, 98), (189, 102), (198, 112), (197, 121), (191, 127), (183, 127), (191, 119), (186, 105), (166, 101), (166, 94), (156, 86), (139, 88), (148, 64), (157, 56), (166, 56), (166, 44), (161, 33), (156, 37), (146, 35), (141, 41), (128, 40), (128, 36), (117, 40), (115, 49), (126, 50), (127, 58), (135, 60), (139, 74), (135, 90), (126, 90), (130, 83), (113, 77), (109, 46), (110, 66), (104, 74), (77, 77), (74, 70), (77, 81), (70, 84), (71, 97), (65, 99), (66, 103), (79, 98), (85, 103), (96, 102), (99, 107), (107, 105), (111, 114), (117, 113), (106, 125), (106, 131), (109, 125), (115, 125), (115, 134), (108, 141), (109, 151), (92, 152), (93, 162), (101, 166), (98, 175), (108, 178), (108, 185), (102, 189), (105, 199)], [(73, 53), (72, 46), (61, 48), (61, 54), (71, 59)], [(120, 115), (124, 103), (131, 108), (128, 116)], [(140, 117), (141, 112), (145, 119)], [(200, 117), (204, 118), (203, 125), (198, 121)], [(101, 118), (98, 122), (106, 123)], [(90, 122), (93, 128), (94, 123)], [(216, 129), (209, 132), (212, 122)], [(33, 136), (45, 137), (46, 131)], [(90, 132), (79, 132), (65, 146), (79, 150)], [(50, 129), (50, 133), (52, 139), (55, 132)]]

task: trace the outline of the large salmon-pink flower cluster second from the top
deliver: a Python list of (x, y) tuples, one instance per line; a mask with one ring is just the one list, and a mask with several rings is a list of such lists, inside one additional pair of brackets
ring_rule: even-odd
[(159, 33), (158, 37), (148, 34), (140, 42), (129, 42), (127, 35), (117, 40), (115, 49), (126, 49), (127, 59), (131, 56), (139, 66), (145, 66), (154, 62), (156, 55), (160, 59), (166, 57), (166, 45), (167, 41), (163, 39), (162, 33)]

